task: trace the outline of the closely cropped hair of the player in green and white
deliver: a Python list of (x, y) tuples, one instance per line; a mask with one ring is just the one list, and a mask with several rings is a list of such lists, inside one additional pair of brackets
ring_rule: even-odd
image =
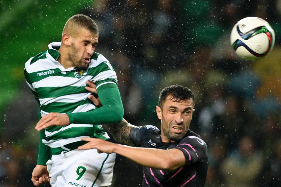
[(83, 14), (77, 14), (67, 20), (62, 34), (66, 33), (75, 38), (82, 28), (89, 30), (93, 34), (99, 32), (96, 23), (90, 17)]

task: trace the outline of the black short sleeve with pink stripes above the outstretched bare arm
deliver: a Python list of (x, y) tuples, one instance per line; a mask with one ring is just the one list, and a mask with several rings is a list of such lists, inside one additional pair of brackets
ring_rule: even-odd
[(200, 162), (207, 157), (207, 145), (197, 136), (187, 136), (174, 148), (184, 153), (186, 165)]

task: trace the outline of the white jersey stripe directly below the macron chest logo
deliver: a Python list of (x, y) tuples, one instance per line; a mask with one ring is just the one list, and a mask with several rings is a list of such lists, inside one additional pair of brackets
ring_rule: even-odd
[(36, 88), (41, 87), (64, 87), (64, 86), (86, 86), (86, 81), (93, 76), (86, 75), (77, 79), (76, 77), (62, 77), (62, 76), (50, 76), (37, 82), (33, 82), (32, 86)]

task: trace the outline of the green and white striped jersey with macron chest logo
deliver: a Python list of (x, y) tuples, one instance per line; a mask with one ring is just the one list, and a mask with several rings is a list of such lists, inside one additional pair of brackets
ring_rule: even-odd
[[(85, 89), (86, 81), (93, 81), (96, 87), (104, 84), (117, 85), (117, 77), (109, 61), (94, 52), (88, 70), (65, 69), (57, 59), (60, 56), (61, 42), (53, 42), (49, 49), (30, 58), (25, 63), (25, 79), (32, 90), (41, 116), (49, 112), (70, 113), (87, 112), (95, 109)], [(82, 137), (107, 139), (109, 136), (102, 125), (69, 124), (67, 126), (51, 126), (45, 129), (43, 143), (51, 147), (52, 153), (72, 150), (82, 145)], [(85, 142), (84, 142), (85, 143)]]

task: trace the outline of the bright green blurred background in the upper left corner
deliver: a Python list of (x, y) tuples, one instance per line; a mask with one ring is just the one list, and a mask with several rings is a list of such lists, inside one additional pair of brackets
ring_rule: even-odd
[[(68, 18), (91, 3), (85, 0), (0, 1), (1, 114), (1, 110), (20, 92), (18, 87), (24, 80), (25, 62), (47, 50), (47, 45), (52, 41), (60, 41)], [(1, 119), (0, 127), (2, 122)]]

